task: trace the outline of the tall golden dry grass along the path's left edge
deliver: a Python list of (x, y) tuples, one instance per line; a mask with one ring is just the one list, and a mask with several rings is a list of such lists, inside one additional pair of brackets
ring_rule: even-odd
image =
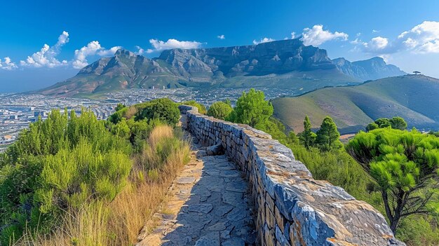
[(18, 245), (84, 245), (119, 246), (133, 245), (147, 220), (156, 212), (165, 198), (166, 191), (178, 171), (189, 160), (189, 144), (173, 149), (161, 169), (154, 168), (158, 175), (151, 175), (151, 163), (158, 161), (156, 146), (167, 139), (175, 139), (173, 128), (166, 125), (156, 127), (149, 136), (149, 144), (135, 158), (135, 167), (129, 184), (111, 202), (94, 202), (77, 212), (69, 213), (60, 228), (49, 238), (32, 238), (27, 233)]

